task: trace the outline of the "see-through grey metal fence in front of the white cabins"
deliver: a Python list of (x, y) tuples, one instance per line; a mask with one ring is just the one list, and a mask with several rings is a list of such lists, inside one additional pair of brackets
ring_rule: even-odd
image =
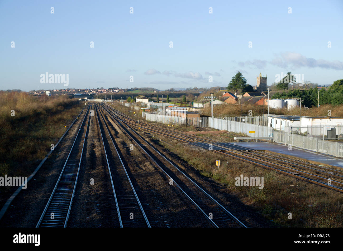
[(340, 125), (318, 125), (318, 126), (280, 126), (273, 127), (274, 131), (289, 133), (300, 136), (309, 136), (321, 140), (343, 139), (343, 126)]

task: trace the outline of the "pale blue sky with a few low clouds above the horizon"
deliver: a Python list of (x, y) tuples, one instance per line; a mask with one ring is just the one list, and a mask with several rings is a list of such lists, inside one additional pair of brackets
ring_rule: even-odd
[(0, 0), (0, 24), (3, 90), (210, 88), (238, 71), (252, 86), (260, 72), (268, 85), (287, 72), (343, 78), (341, 0)]

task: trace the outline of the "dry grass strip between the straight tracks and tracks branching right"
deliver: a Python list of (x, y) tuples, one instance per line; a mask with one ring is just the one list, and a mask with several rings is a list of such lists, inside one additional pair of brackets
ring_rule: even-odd
[[(170, 142), (168, 138), (162, 139)], [(188, 144), (156, 141), (196, 168), (202, 175), (228, 187), (232, 194), (262, 216), (285, 227), (342, 227), (343, 195), (296, 178)], [(215, 166), (215, 160), (221, 166)], [(264, 177), (264, 188), (235, 186), (235, 177)], [(292, 213), (292, 219), (288, 219)]]

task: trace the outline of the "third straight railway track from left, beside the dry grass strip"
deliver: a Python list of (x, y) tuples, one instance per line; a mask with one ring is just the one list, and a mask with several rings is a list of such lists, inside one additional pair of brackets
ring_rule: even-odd
[[(175, 184), (186, 195), (186, 197), (214, 227), (246, 227), (208, 192), (201, 188), (194, 180), (182, 172), (180, 168), (167, 159), (148, 141), (132, 130), (108, 108), (103, 106), (102, 110), (106, 111), (107, 114), (113, 118), (117, 126), (122, 131), (125, 131), (125, 133), (141, 149), (141, 151), (144, 152), (144, 154), (151, 158), (151, 160), (173, 181), (173, 184)], [(167, 166), (171, 166), (171, 168)]]

